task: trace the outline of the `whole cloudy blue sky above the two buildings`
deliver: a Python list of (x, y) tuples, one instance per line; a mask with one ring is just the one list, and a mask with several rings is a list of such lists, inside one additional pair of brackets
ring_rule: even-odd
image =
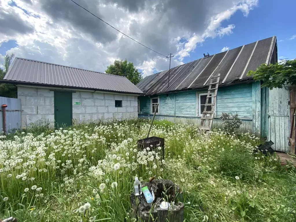
[[(277, 37), (279, 59), (296, 58), (295, 0), (74, 0), (163, 55), (171, 67)], [(70, 0), (1, 0), (4, 55), (104, 72), (127, 59), (143, 76), (169, 60), (132, 41)]]

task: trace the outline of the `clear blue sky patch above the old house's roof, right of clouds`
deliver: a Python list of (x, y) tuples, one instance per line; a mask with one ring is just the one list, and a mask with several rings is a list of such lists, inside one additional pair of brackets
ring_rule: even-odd
[(279, 59), (295, 59), (296, 36), (290, 40), (296, 35), (295, 9), (295, 0), (286, 0), (283, 4), (280, 1), (264, 0), (259, 1), (258, 7), (251, 10), (247, 17), (237, 11), (229, 20), (224, 21), (235, 25), (232, 34), (222, 38), (207, 38), (184, 62), (201, 58), (203, 53), (215, 54), (223, 47), (233, 49), (271, 36), (277, 37)]

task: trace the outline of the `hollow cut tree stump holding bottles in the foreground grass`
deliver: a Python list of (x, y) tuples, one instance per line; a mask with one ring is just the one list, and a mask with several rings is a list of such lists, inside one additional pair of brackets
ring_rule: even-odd
[[(155, 199), (152, 203), (147, 203), (143, 193), (139, 198), (135, 197), (134, 193), (131, 194), (131, 208), (137, 221), (151, 222), (153, 218), (157, 218), (158, 222), (183, 222), (184, 204), (178, 200), (179, 186), (171, 180), (153, 180), (151, 183), (142, 184), (142, 187), (145, 186), (148, 186), (150, 192), (152, 187)], [(168, 196), (168, 199), (165, 196)], [(163, 198), (171, 204), (169, 209), (160, 208)]]

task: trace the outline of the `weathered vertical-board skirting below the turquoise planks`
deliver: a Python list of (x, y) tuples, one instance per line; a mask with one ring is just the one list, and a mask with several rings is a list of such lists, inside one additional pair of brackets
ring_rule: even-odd
[[(146, 115), (146, 114), (139, 114), (138, 118), (143, 119), (152, 119), (153, 115)], [(195, 126), (200, 125), (200, 118), (199, 117), (185, 117), (185, 116), (168, 116), (168, 115), (156, 115), (156, 120), (168, 120), (173, 123), (187, 123), (192, 124)], [(219, 118), (214, 118), (213, 120), (213, 128), (221, 128), (221, 120)], [(242, 133), (253, 133), (253, 125), (252, 120), (242, 120), (242, 126), (240, 127), (240, 132)]]

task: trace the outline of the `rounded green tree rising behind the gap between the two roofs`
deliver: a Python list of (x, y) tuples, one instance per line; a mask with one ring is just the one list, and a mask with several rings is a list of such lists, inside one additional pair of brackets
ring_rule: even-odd
[(113, 64), (107, 66), (106, 73), (126, 77), (133, 84), (142, 80), (142, 74), (134, 67), (132, 62), (127, 60), (115, 60)]

